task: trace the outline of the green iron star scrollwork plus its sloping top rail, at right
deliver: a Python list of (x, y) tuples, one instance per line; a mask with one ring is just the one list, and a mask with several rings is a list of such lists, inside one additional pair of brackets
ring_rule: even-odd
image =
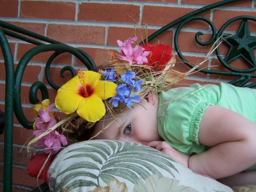
[[(250, 31), (249, 31), (249, 27), (248, 27), (248, 20), (255, 22), (256, 18), (251, 17), (251, 16), (235, 17), (235, 18), (227, 21), (225, 24), (223, 24), (223, 26), (220, 28), (218, 33), (216, 33), (215, 25), (213, 24), (213, 22), (211, 20), (209, 20), (205, 17), (196, 16), (197, 14), (202, 13), (206, 10), (210, 10), (210, 9), (213, 9), (213, 8), (216, 8), (216, 7), (228, 4), (228, 3), (236, 2), (236, 1), (239, 1), (239, 0), (220, 1), (217, 3), (202, 7), (200, 9), (197, 9), (191, 13), (188, 13), (188, 14), (184, 15), (183, 17), (167, 24), (166, 26), (159, 29), (157, 32), (150, 35), (148, 37), (148, 41), (152, 40), (153, 38), (155, 38), (159, 34), (163, 33), (164, 31), (179, 24), (179, 26), (177, 27), (175, 34), (174, 34), (175, 50), (177, 51), (177, 54), (179, 55), (179, 57), (184, 61), (184, 63), (192, 68), (192, 67), (194, 67), (194, 65), (190, 64), (190, 62), (183, 56), (182, 50), (180, 50), (180, 48), (179, 48), (178, 36), (181, 31), (181, 28), (187, 22), (192, 21), (192, 20), (205, 21), (211, 27), (211, 31), (212, 31), (211, 39), (207, 42), (202, 42), (199, 40), (199, 36), (203, 35), (203, 33), (197, 32), (195, 35), (195, 40), (199, 45), (206, 46), (206, 45), (210, 45), (211, 43), (213, 43), (213, 41), (218, 42), (219, 37), (221, 37), (221, 36), (223, 36), (224, 38), (229, 36), (229, 38), (226, 39), (225, 42), (228, 43), (231, 46), (231, 48), (230, 48), (229, 53), (225, 57), (225, 59), (222, 58), (222, 56), (219, 52), (219, 48), (217, 47), (217, 49), (216, 49), (216, 55), (217, 55), (218, 60), (229, 71), (217, 71), (217, 70), (208, 70), (208, 69), (199, 69), (199, 68), (197, 70), (200, 70), (200, 72), (203, 72), (205, 74), (218, 74), (220, 76), (224, 75), (224, 76), (237, 77), (237, 79), (230, 81), (229, 83), (236, 85), (238, 87), (243, 87), (243, 86), (244, 87), (255, 87), (256, 83), (251, 83), (248, 85), (246, 85), (246, 84), (248, 82), (250, 82), (251, 78), (256, 77), (256, 74), (252, 73), (256, 70), (256, 61), (255, 61), (255, 55), (253, 52), (253, 49), (256, 47), (256, 37), (250, 35)], [(232, 34), (233, 36), (230, 36), (230, 34), (226, 34), (225, 29), (227, 28), (227, 26), (235, 21), (238, 21), (238, 20), (241, 20), (242, 23), (241, 23), (240, 29), (238, 30), (237, 34)], [(145, 42), (145, 41), (146, 41), (146, 39), (143, 42)], [(141, 42), (141, 43), (143, 43), (143, 42)], [(250, 49), (249, 51), (246, 50), (246, 48), (245, 48), (246, 46), (249, 47), (248, 48), (248, 49)], [(244, 52), (239, 49), (244, 49)], [(232, 54), (232, 51), (234, 52), (233, 54)], [(231, 67), (229, 65), (229, 63), (231, 61), (233, 61), (234, 59), (236, 59), (237, 57), (242, 57), (245, 61), (247, 61), (250, 65), (250, 68), (249, 69), (236, 69), (234, 67)]]

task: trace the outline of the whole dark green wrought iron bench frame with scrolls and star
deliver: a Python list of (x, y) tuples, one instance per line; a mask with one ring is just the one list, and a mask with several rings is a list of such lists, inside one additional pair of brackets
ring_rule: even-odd
[[(227, 21), (225, 24), (223, 24), (221, 29), (217, 32), (215, 25), (213, 24), (212, 21), (210, 21), (207, 18), (197, 16), (198, 14), (204, 11), (214, 9), (216, 7), (220, 7), (220, 6), (223, 6), (232, 2), (237, 2), (237, 1), (241, 1), (241, 0), (224, 0), (218, 3), (214, 3), (211, 5), (202, 7), (191, 13), (188, 13), (183, 17), (162, 27), (161, 29), (156, 31), (154, 34), (150, 35), (148, 37), (148, 41), (156, 38), (158, 35), (160, 35), (164, 31), (179, 24), (174, 34), (175, 50), (177, 51), (178, 56), (181, 58), (181, 60), (184, 61), (186, 65), (188, 65), (189, 67), (193, 67), (193, 65), (191, 65), (189, 61), (183, 56), (182, 50), (180, 50), (179, 44), (178, 44), (178, 36), (181, 31), (181, 28), (187, 22), (192, 20), (202, 20), (206, 22), (208, 25), (210, 25), (212, 29), (212, 37), (209, 41), (201, 42), (199, 40), (199, 36), (202, 35), (202, 32), (198, 32), (195, 36), (196, 42), (199, 45), (206, 46), (206, 45), (212, 44), (222, 35), (224, 37), (229, 36), (229, 34), (225, 34), (225, 28), (228, 25), (231, 25), (235, 21), (241, 21), (241, 26), (237, 34), (234, 34), (233, 36), (229, 37), (226, 40), (226, 43), (231, 47), (231, 49), (230, 49), (230, 52), (228, 52), (225, 59), (223, 59), (220, 56), (219, 49), (218, 48), (216, 49), (217, 58), (219, 62), (225, 67), (225, 71), (200, 69), (200, 72), (205, 74), (232, 76), (235, 78), (234, 80), (229, 82), (230, 84), (233, 84), (239, 87), (243, 87), (243, 86), (255, 87), (256, 83), (248, 84), (248, 82), (250, 82), (252, 78), (256, 77), (256, 74), (254, 73), (254, 71), (256, 70), (256, 61), (255, 61), (255, 55), (253, 51), (254, 48), (256, 47), (256, 36), (250, 35), (250, 31), (248, 28), (248, 21), (256, 22), (256, 18), (250, 17), (250, 16), (240, 16), (240, 17), (233, 18)], [(12, 152), (12, 136), (13, 136), (13, 129), (12, 129), (13, 128), (13, 111), (18, 121), (24, 128), (26, 129), (33, 128), (32, 127), (33, 122), (27, 120), (27, 118), (24, 115), (24, 112), (22, 110), (21, 98), (20, 98), (22, 77), (28, 62), (31, 60), (31, 58), (33, 58), (38, 53), (55, 51), (54, 54), (52, 54), (51, 57), (48, 59), (45, 65), (46, 66), (45, 76), (49, 85), (56, 90), (59, 89), (59, 86), (55, 85), (52, 82), (51, 77), (49, 75), (49, 70), (50, 70), (52, 61), (58, 55), (68, 52), (74, 55), (79, 60), (81, 60), (89, 70), (93, 69), (95, 67), (95, 64), (93, 60), (90, 58), (90, 56), (82, 50), (76, 49), (64, 43), (41, 36), (39, 34), (8, 24), (3, 21), (0, 21), (0, 27), (1, 27), (0, 28), (0, 45), (1, 45), (3, 56), (4, 56), (5, 74), (6, 74), (5, 130), (4, 130), (4, 191), (9, 192), (9, 191), (12, 191), (12, 153), (11, 152)], [(6, 38), (6, 35), (37, 45), (24, 54), (24, 56), (19, 61), (15, 71), (14, 71), (12, 53), (11, 53), (11, 49), (9, 46), (9, 42)], [(231, 61), (233, 61), (238, 57), (243, 58), (243, 60), (248, 63), (248, 66), (249, 66), (248, 69), (237, 69), (229, 65)], [(62, 74), (66, 70), (71, 71), (72, 76), (75, 76), (75, 70), (72, 67), (69, 67), (69, 66), (64, 67), (61, 71)], [(30, 93), (29, 93), (29, 99), (32, 104), (39, 102), (39, 100), (36, 97), (38, 90), (41, 91), (42, 99), (49, 98), (47, 87), (42, 82), (35, 82), (31, 86)], [(43, 184), (40, 186), (40, 188), (42, 191), (46, 191), (47, 185)], [(39, 191), (39, 190), (35, 189), (34, 191)]]

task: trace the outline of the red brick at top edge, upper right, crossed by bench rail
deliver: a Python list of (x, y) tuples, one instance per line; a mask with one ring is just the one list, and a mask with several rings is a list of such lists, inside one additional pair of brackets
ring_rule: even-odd
[[(197, 5), (210, 5), (213, 3), (220, 2), (219, 0), (182, 0), (182, 4), (197, 4)], [(251, 0), (243, 0), (234, 3), (229, 3), (225, 6), (232, 6), (232, 7), (251, 7), (252, 1)]]

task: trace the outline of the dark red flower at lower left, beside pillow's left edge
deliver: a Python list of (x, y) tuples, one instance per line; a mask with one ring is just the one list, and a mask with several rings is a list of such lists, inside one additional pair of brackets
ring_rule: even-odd
[[(28, 170), (28, 174), (31, 177), (37, 178), (37, 175), (38, 175), (41, 167), (43, 166), (44, 162), (46, 161), (48, 155), (49, 154), (33, 155), (30, 158), (30, 161), (27, 166), (27, 170)], [(43, 179), (45, 182), (47, 182), (47, 171), (48, 171), (51, 163), (53, 162), (53, 160), (54, 160), (54, 156), (52, 156), (48, 159), (48, 161), (45, 164), (38, 179)]]

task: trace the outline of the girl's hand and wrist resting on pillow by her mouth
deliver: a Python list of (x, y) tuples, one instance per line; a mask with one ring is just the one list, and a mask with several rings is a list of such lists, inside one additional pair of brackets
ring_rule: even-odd
[(189, 156), (187, 156), (186, 154), (173, 149), (169, 143), (165, 142), (165, 141), (151, 141), (148, 143), (147, 145), (148, 147), (153, 147), (167, 155), (169, 155), (170, 157), (172, 157), (173, 159), (175, 159), (176, 161), (178, 161), (179, 163), (183, 164), (184, 166), (188, 167), (188, 159)]

